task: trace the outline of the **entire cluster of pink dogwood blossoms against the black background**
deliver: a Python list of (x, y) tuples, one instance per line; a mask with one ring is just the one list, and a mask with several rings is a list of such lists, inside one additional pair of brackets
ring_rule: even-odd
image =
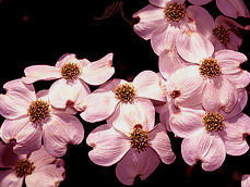
[[(249, 26), (229, 17), (250, 14), (242, 0), (216, 0), (224, 15), (214, 20), (201, 7), (210, 1), (189, 0), (193, 5), (187, 7), (184, 0), (150, 0), (133, 14), (134, 32), (158, 55), (158, 73), (146, 70), (131, 82), (111, 78), (112, 53), (94, 62), (64, 54), (55, 66), (28, 66), (24, 77), (5, 83), (0, 167), (8, 170), (0, 173), (0, 186), (58, 186), (66, 177), (59, 158), (69, 144), (84, 139), (78, 113), (85, 122), (103, 122), (86, 137), (88, 157), (97, 165), (116, 164), (124, 185), (176, 160), (169, 132), (182, 138), (184, 162), (201, 161), (204, 171), (217, 170), (226, 154), (245, 154), (250, 73), (240, 67), (248, 59), (238, 49), (239, 32)], [(36, 92), (40, 80), (53, 83)], [(98, 88), (91, 91), (88, 85)], [(249, 175), (241, 184), (250, 186)]]

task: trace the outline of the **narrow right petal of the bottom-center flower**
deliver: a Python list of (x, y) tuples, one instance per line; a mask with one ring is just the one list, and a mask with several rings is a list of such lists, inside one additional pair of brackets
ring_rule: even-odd
[(157, 124), (150, 133), (151, 147), (157, 152), (165, 164), (170, 164), (176, 160), (171, 150), (171, 142), (163, 124)]

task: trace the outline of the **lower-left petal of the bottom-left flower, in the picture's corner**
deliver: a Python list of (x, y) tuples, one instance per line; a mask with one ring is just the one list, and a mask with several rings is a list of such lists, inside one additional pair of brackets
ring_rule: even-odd
[(0, 172), (1, 187), (22, 187), (24, 177), (16, 177), (12, 170), (4, 170)]

